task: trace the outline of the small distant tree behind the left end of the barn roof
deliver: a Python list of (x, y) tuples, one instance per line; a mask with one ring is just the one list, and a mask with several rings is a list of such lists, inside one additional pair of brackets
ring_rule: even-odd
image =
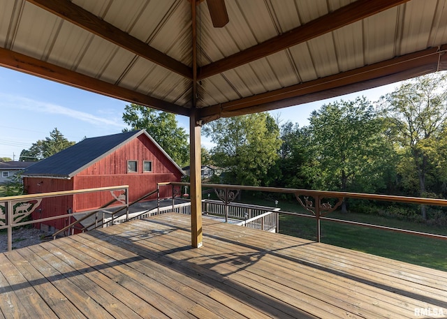
[(20, 161), (40, 161), (74, 144), (75, 142), (68, 141), (57, 128), (54, 128), (50, 132), (50, 137), (38, 140), (29, 149), (23, 149), (20, 152)]

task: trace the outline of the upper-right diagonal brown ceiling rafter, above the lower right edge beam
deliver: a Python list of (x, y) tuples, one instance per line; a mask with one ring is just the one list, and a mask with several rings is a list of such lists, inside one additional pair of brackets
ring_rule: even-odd
[(406, 1), (409, 0), (355, 1), (332, 13), (328, 13), (322, 17), (318, 17), (316, 20), (292, 29), (285, 34), (266, 40), (263, 43), (249, 47), (247, 50), (237, 52), (212, 64), (202, 66), (198, 73), (198, 80), (203, 80), (205, 77), (210, 77), (251, 61), (267, 57), (270, 54), (285, 50), (288, 47), (298, 45), (317, 36), (322, 36), (353, 22), (380, 13), (383, 10), (398, 6)]

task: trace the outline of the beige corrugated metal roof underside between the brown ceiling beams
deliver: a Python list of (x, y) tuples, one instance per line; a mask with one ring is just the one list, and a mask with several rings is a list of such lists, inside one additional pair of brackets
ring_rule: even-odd
[[(215, 66), (220, 61), (226, 64), (226, 59), (233, 54), (251, 50), (278, 36), (294, 31), (300, 36), (297, 28), (318, 19), (326, 20), (316, 25), (323, 30), (318, 36), (310, 36), (278, 52), (265, 52), (265, 57), (254, 61), (242, 61), (228, 69), (223, 67), (217, 74), (200, 79), (197, 106), (234, 104), (269, 92), (273, 97), (280, 89), (307, 83), (312, 86), (312, 81), (318, 79), (381, 61), (392, 63), (392, 59), (405, 54), (447, 45), (446, 1), (402, 1), (400, 5), (377, 10), (328, 31), (324, 31), (325, 24), (332, 23), (330, 15), (337, 10), (351, 8), (356, 3), (362, 6), (352, 10), (366, 10), (365, 6), (386, 6), (386, 1), (225, 0), (230, 22), (223, 28), (212, 27), (207, 3), (201, 1), (197, 6), (196, 29), (199, 73), (202, 67)], [(73, 0), (67, 3), (74, 19), (78, 17), (77, 24), (64, 20), (68, 14), (54, 14), (34, 2), (48, 5), (45, 0), (0, 0), (1, 47), (178, 105), (179, 112), (182, 107), (191, 107), (192, 71), (191, 76), (185, 76), (181, 71), (171, 71), (163, 63), (133, 52), (126, 47), (129, 38), (124, 39), (108, 29), (108, 26), (116, 27), (132, 36), (131, 41), (137, 40), (191, 69), (191, 0)], [(87, 16), (82, 16), (85, 13)], [(101, 25), (103, 22), (107, 24)], [(85, 25), (80, 27), (78, 24), (82, 23)], [(113, 39), (98, 35), (97, 27), (105, 33), (110, 31)], [(441, 68), (446, 68), (442, 62)], [(17, 68), (8, 63), (4, 64)], [(433, 71), (432, 68), (427, 67), (427, 72)], [(96, 84), (94, 91), (101, 91), (101, 87)], [(105, 94), (113, 95), (108, 91)], [(140, 99), (135, 97), (134, 101)], [(214, 118), (220, 115), (215, 114)]]

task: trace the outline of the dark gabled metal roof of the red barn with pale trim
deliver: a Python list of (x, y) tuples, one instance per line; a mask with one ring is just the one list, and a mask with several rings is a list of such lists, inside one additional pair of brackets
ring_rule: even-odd
[(99, 161), (101, 158), (107, 156), (116, 149), (119, 149), (119, 147), (122, 147), (122, 145), (133, 138), (137, 138), (141, 134), (147, 135), (149, 140), (154, 142), (156, 147), (158, 147), (163, 154), (175, 164), (179, 171), (182, 172), (173, 159), (161, 149), (159, 144), (157, 144), (145, 130), (141, 130), (99, 136), (97, 138), (86, 138), (85, 140), (68, 147), (68, 149), (59, 151), (59, 153), (32, 165), (27, 170), (24, 170), (23, 176), (71, 178), (81, 170), (84, 170), (89, 167), (89, 165)]

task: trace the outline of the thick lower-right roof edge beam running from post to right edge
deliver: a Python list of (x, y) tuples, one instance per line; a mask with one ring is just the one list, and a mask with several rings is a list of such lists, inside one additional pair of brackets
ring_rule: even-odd
[(277, 110), (444, 71), (447, 70), (446, 52), (447, 44), (444, 44), (265, 94), (204, 107), (200, 110), (200, 119), (206, 123), (219, 117)]

